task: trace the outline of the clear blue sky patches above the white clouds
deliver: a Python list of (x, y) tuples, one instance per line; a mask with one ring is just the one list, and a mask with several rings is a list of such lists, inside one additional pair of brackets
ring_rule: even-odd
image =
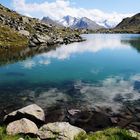
[[(19, 0), (20, 1), (20, 0)], [(28, 3), (42, 3), (55, 0), (26, 0)], [(138, 13), (140, 12), (140, 0), (70, 0), (75, 7), (100, 9), (105, 12)], [(0, 0), (1, 4), (13, 8), (12, 0)]]

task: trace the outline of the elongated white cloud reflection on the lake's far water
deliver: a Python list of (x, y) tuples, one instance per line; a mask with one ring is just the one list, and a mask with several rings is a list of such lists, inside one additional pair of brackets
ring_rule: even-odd
[(22, 65), (24, 68), (31, 69), (37, 65), (49, 65), (53, 61), (52, 59), (66, 60), (74, 54), (98, 53), (102, 50), (119, 49), (129, 49), (128, 44), (122, 43), (121, 35), (92, 35), (85, 42), (62, 45), (55, 50), (38, 55), (32, 60), (22, 62)]

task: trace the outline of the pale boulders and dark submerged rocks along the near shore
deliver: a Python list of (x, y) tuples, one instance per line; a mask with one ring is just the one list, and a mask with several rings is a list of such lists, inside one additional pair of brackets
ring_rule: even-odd
[[(58, 114), (48, 114), (49, 118), (41, 107), (31, 104), (5, 115), (3, 125), (7, 125), (6, 133), (11, 136), (24, 134), (38, 140), (74, 140), (80, 134), (86, 135), (108, 127), (120, 127), (139, 132), (140, 116), (135, 114), (134, 110), (127, 108), (126, 112), (117, 114), (110, 108), (100, 107), (92, 110), (66, 109), (65, 116), (60, 120), (57, 118)], [(136, 108), (135, 111), (139, 112), (140, 109)], [(140, 136), (137, 132), (135, 132), (137, 136)]]

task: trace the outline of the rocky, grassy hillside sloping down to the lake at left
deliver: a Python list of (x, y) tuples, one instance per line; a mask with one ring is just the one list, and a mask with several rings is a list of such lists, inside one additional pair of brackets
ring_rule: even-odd
[[(5, 29), (6, 34), (2, 31)], [(17, 47), (17, 44), (20, 47), (28, 45), (36, 47), (82, 41), (78, 31), (44, 24), (38, 19), (22, 16), (2, 5), (0, 5), (0, 31), (1, 48)], [(15, 38), (11, 38), (12, 36)]]

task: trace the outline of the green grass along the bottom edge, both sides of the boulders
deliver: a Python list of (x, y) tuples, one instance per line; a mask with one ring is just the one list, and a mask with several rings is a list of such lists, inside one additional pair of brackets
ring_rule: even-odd
[[(24, 138), (25, 140), (37, 140), (37, 138), (30, 138), (29, 136), (16, 135), (8, 136), (5, 127), (0, 127), (0, 140), (18, 140)], [(103, 131), (90, 133), (87, 135), (80, 134), (75, 140), (140, 140), (139, 134), (130, 133), (128, 130), (120, 128), (108, 128)]]

